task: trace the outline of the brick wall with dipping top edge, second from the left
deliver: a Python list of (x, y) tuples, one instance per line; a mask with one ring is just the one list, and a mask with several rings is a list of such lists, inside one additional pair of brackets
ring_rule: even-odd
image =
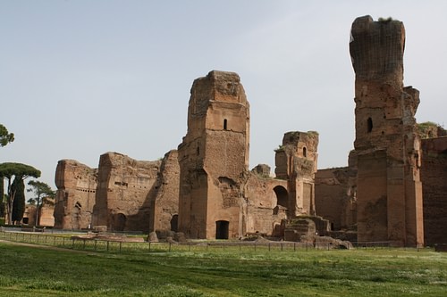
[(93, 225), (110, 231), (149, 230), (150, 197), (161, 161), (136, 161), (121, 153), (99, 158)]

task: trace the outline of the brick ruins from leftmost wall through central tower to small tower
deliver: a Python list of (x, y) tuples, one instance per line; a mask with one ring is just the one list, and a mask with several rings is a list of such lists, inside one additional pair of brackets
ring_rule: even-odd
[[(288, 132), (275, 150), (277, 177), (266, 165), (249, 171), (249, 102), (240, 78), (211, 71), (194, 81), (187, 135), (163, 161), (120, 153), (101, 155), (98, 169), (60, 161), (55, 227), (208, 239), (293, 233), (288, 220), (316, 214), (317, 145), (316, 132)], [(314, 220), (324, 233), (324, 220)]]

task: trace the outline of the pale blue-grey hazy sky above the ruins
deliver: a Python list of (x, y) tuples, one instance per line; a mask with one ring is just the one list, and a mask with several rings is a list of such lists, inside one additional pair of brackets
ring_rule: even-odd
[(186, 133), (190, 87), (240, 75), (251, 106), (250, 169), (274, 170), (283, 133), (320, 134), (318, 168), (347, 165), (354, 141), (349, 37), (358, 16), (406, 28), (404, 84), (417, 121), (447, 123), (447, 1), (0, 0), (0, 162), (97, 168), (106, 152), (156, 160)]

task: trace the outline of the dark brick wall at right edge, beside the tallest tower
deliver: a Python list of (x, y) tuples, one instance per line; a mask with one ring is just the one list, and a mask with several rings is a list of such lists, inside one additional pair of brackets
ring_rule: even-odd
[(422, 140), (422, 152), (424, 236), (434, 246), (447, 243), (447, 137)]

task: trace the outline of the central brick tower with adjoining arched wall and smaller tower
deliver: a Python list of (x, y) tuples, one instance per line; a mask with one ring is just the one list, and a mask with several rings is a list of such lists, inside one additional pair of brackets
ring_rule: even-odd
[(282, 219), (315, 214), (317, 144), (316, 133), (287, 133), (276, 151), (278, 178), (262, 166), (249, 172), (249, 102), (239, 76), (196, 79), (179, 145), (179, 230), (192, 238), (271, 235)]

